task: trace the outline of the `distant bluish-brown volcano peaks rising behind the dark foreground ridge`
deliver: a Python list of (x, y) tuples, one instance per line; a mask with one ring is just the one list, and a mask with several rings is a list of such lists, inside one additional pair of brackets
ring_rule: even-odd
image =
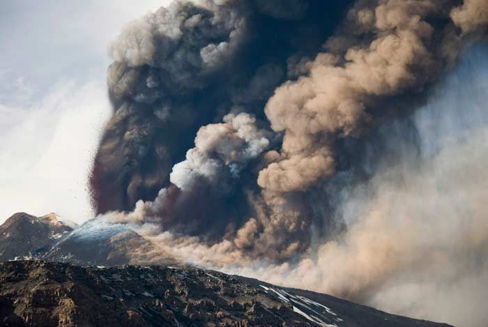
[[(153, 255), (148, 259), (148, 255)], [(157, 254), (157, 256), (155, 256)], [(43, 259), (77, 265), (178, 264), (130, 227), (92, 219), (77, 226), (49, 213), (15, 213), (0, 226), (0, 261)]]

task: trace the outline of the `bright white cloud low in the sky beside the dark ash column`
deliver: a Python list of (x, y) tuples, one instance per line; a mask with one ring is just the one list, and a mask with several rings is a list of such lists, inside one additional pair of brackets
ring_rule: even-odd
[(17, 211), (89, 218), (86, 180), (110, 112), (105, 84), (71, 81), (36, 105), (1, 108), (0, 220)]

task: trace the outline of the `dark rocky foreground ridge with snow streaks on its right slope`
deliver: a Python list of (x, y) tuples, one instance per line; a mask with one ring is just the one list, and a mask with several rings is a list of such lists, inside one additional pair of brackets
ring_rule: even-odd
[(197, 268), (0, 264), (1, 326), (448, 326)]

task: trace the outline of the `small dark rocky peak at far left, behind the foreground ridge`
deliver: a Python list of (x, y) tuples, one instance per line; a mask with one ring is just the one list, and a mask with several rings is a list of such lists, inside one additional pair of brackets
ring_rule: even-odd
[(54, 214), (15, 213), (0, 226), (0, 261), (37, 257), (72, 230)]

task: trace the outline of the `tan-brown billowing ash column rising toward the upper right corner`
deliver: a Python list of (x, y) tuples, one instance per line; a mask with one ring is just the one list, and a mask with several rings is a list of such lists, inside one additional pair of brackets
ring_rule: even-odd
[[(422, 89), (439, 77), (450, 65), (452, 54), (443, 49), (452, 42), (453, 26), (429, 24), (429, 19), (449, 15), (450, 3), (358, 1), (341, 28), (346, 38), (330, 38), (329, 51), (307, 63), (307, 76), (283, 84), (268, 101), (266, 116), (273, 130), (285, 135), (279, 160), (259, 173), (259, 185), (306, 190), (330, 176), (338, 137), (362, 132), (377, 107), (388, 106), (396, 115), (402, 108), (382, 103), (383, 98)], [(460, 17), (475, 9), (464, 6), (452, 15), (465, 32), (472, 26), (465, 28)]]

